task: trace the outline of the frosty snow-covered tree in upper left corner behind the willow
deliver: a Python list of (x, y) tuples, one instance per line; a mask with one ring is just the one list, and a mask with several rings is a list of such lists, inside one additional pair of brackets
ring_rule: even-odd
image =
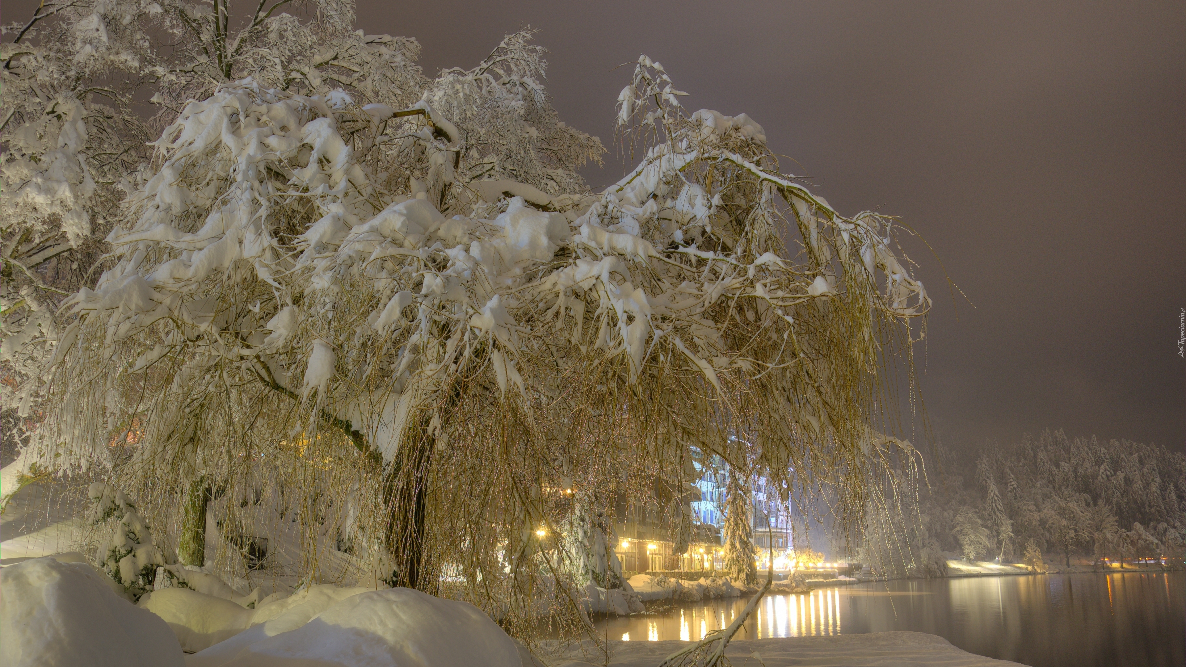
[[(425, 80), (415, 40), (351, 30), (353, 4), (317, 0), (311, 20), (291, 0), (213, 2), (71, 0), (38, 5), (4, 26), (0, 45), (0, 407), (37, 412), (40, 377), (60, 336), (52, 313), (93, 287), (121, 220), (142, 186), (147, 146), (189, 100), (250, 76), (310, 95), (345, 90), (410, 104)], [(134, 100), (160, 109), (146, 117)], [(167, 119), (167, 120), (164, 120)], [(39, 419), (33, 419), (39, 421)], [(6, 437), (23, 437), (21, 430)]]

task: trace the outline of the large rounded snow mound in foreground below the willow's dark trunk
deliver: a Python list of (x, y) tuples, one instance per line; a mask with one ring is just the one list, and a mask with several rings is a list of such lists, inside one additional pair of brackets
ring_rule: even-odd
[[(267, 608), (260, 611), (263, 609)], [(186, 665), (519, 667), (522, 663), (515, 642), (482, 610), (412, 589), (356, 593), (305, 623), (285, 629), (299, 622), (305, 611), (296, 604), (267, 623), (190, 656)]]

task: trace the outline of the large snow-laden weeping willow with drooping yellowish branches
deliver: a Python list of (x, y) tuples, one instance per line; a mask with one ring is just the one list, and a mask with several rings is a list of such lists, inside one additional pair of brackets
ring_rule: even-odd
[(857, 519), (930, 306), (894, 220), (840, 215), (646, 57), (619, 97), (640, 159), (589, 193), (600, 144), (559, 122), (534, 49), (403, 109), (251, 81), (187, 104), (117, 263), (69, 300), (39, 456), (113, 465), (158, 523), (195, 479), (225, 526), (275, 503), (302, 573), (353, 545), (519, 631), (606, 571), (579, 553), (612, 558), (589, 503), (677, 496), (709, 457)]

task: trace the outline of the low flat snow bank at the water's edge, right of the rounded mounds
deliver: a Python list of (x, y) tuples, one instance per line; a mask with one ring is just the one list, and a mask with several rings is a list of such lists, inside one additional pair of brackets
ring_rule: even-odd
[[(610, 661), (604, 662), (592, 642), (544, 642), (544, 650), (562, 649), (559, 660), (568, 667), (607, 665), (607, 667), (655, 667), (688, 642), (611, 641)], [(729, 642), (725, 655), (734, 665), (766, 667), (823, 667), (833, 665), (878, 665), (879, 667), (1006, 667), (1018, 665), (968, 653), (946, 640), (925, 633), (873, 633), (831, 637), (789, 637), (777, 640), (738, 640)], [(565, 659), (570, 660), (566, 662)], [(588, 662), (581, 662), (588, 661)]]

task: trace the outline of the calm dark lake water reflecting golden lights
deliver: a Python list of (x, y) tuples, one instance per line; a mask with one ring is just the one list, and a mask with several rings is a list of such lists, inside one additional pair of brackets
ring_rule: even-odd
[[(630, 641), (699, 640), (746, 599), (607, 618)], [(1186, 666), (1186, 573), (1037, 574), (876, 582), (761, 601), (738, 639), (916, 630), (1033, 667)]]

